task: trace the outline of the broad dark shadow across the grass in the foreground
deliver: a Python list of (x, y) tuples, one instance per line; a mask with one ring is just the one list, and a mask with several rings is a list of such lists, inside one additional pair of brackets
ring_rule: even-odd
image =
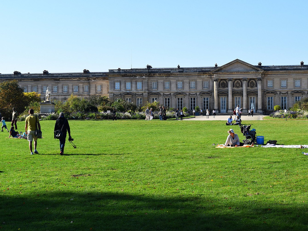
[[(226, 201), (226, 202), (225, 202)], [(296, 207), (296, 208), (295, 208)], [(40, 192), (0, 197), (4, 230), (307, 230), (305, 205), (204, 196)]]

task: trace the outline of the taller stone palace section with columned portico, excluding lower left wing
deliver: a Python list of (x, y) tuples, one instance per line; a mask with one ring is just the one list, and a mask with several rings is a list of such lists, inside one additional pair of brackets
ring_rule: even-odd
[(231, 113), (237, 104), (243, 112), (269, 114), (274, 105), (290, 108), (307, 96), (308, 65), (262, 66), (239, 59), (222, 66), (109, 70), (109, 99), (143, 105), (159, 101), (166, 107), (193, 110), (214, 108)]

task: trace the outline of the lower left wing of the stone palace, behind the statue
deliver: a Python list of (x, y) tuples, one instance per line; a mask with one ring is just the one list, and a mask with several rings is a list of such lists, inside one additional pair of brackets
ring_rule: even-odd
[(49, 73), (44, 70), (39, 74), (0, 74), (0, 82), (18, 80), (24, 92), (38, 92), (45, 100), (47, 87), (51, 90), (51, 101), (65, 102), (71, 94), (89, 99), (92, 95), (108, 96), (109, 82), (106, 73), (90, 72), (84, 69), (83, 73)]

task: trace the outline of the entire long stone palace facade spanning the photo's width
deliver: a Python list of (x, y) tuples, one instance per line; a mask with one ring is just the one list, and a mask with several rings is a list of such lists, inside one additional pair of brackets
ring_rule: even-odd
[(308, 65), (262, 66), (236, 59), (225, 65), (195, 68), (110, 69), (108, 72), (0, 74), (0, 82), (16, 79), (25, 92), (36, 91), (45, 98), (47, 86), (52, 100), (66, 101), (74, 94), (89, 99), (108, 96), (144, 105), (159, 101), (165, 107), (193, 110), (214, 108), (231, 113), (237, 104), (243, 112), (269, 114), (275, 105), (290, 108), (307, 97)]

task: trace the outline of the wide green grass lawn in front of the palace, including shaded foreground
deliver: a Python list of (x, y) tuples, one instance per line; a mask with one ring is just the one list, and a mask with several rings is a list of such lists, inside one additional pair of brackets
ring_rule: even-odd
[[(308, 144), (307, 120), (250, 121), (258, 136)], [(218, 149), (224, 121), (55, 121), (38, 155), (0, 132), (0, 230), (307, 230), (305, 149)], [(18, 122), (18, 131), (24, 122)]]

